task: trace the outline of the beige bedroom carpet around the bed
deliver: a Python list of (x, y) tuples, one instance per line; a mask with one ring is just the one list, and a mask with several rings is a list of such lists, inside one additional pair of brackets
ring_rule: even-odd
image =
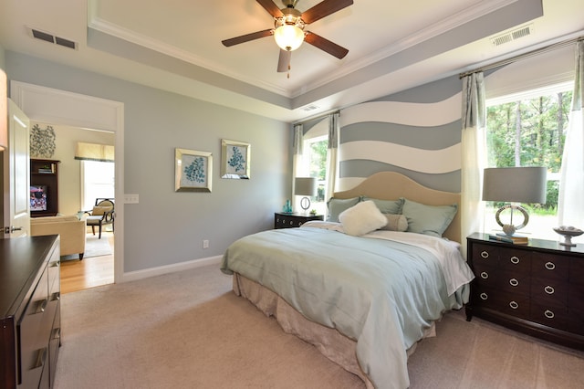
[[(68, 293), (57, 389), (362, 388), (231, 292), (217, 267)], [(448, 314), (409, 363), (412, 388), (581, 387), (584, 353)]]

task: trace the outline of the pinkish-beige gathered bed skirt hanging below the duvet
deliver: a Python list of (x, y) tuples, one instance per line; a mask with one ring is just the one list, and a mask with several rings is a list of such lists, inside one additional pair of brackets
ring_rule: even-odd
[[(357, 361), (355, 352), (357, 342), (335, 329), (309, 321), (272, 290), (240, 274), (234, 274), (233, 289), (237, 296), (251, 301), (266, 316), (274, 316), (284, 331), (314, 345), (330, 361), (359, 376), (368, 389), (374, 388)], [(434, 329), (432, 326), (424, 337), (434, 336)], [(415, 345), (408, 350), (408, 356), (412, 355), (414, 350)]]

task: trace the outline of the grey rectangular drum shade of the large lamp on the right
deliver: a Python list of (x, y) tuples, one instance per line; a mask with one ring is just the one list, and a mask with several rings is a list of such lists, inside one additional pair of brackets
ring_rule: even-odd
[(546, 167), (485, 169), (483, 200), (506, 203), (545, 203)]

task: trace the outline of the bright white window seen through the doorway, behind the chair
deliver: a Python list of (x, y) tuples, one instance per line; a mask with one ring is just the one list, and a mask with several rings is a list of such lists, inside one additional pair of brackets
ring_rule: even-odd
[(114, 198), (115, 163), (81, 161), (82, 209), (90, 210), (96, 198)]

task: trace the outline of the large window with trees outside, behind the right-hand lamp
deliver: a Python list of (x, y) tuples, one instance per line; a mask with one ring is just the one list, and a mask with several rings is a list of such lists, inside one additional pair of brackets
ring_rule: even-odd
[[(487, 100), (487, 167), (547, 167), (546, 204), (522, 205), (527, 209), (529, 222), (519, 234), (558, 239), (552, 227), (558, 226), (559, 171), (572, 88), (573, 82), (568, 82)], [(495, 212), (503, 204), (486, 205), (485, 231), (500, 230)]]

